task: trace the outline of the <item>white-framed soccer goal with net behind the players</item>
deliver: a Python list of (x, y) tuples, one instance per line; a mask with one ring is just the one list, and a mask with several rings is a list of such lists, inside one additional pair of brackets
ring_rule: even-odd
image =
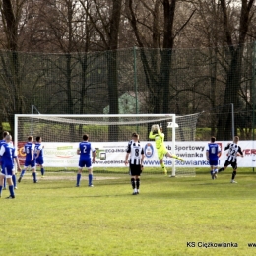
[[(109, 170), (124, 167), (126, 147), (132, 133), (137, 132), (145, 148), (145, 170), (161, 171), (155, 142), (149, 139), (153, 124), (161, 124), (165, 134), (165, 145), (176, 153), (178, 142), (194, 141), (199, 114), (176, 116), (175, 114), (102, 114), (102, 115), (15, 115), (15, 146), (22, 148), (28, 136), (41, 136), (44, 144), (45, 166), (74, 167), (78, 165), (76, 154), (82, 135), (89, 134), (89, 140), (96, 148), (95, 167)], [(164, 162), (171, 176), (194, 176), (195, 168), (175, 159)], [(152, 172), (152, 171), (151, 171)]]

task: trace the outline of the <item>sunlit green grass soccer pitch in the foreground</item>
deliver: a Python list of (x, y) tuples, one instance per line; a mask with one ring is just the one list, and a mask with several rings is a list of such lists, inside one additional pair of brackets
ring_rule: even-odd
[[(255, 255), (256, 176), (230, 176), (145, 174), (133, 196), (125, 174), (95, 174), (93, 188), (84, 174), (77, 188), (76, 173), (46, 173), (37, 184), (28, 173), (15, 199), (2, 193), (1, 255)], [(211, 242), (232, 247), (201, 247)]]

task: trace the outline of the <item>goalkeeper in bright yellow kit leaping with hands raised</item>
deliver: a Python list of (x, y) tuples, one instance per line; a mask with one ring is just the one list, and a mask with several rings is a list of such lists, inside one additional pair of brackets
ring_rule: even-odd
[(163, 172), (165, 173), (165, 175), (167, 175), (167, 169), (165, 168), (164, 162), (163, 162), (163, 157), (169, 157), (169, 158), (173, 158), (176, 160), (181, 160), (184, 161), (183, 159), (177, 157), (176, 155), (173, 155), (171, 153), (168, 152), (168, 150), (166, 149), (165, 145), (164, 145), (164, 133), (162, 133), (162, 126), (160, 125), (156, 125), (154, 124), (152, 126), (150, 135), (149, 135), (150, 139), (155, 139), (156, 142), (156, 148), (158, 151), (158, 157), (160, 160), (160, 166), (163, 170)]

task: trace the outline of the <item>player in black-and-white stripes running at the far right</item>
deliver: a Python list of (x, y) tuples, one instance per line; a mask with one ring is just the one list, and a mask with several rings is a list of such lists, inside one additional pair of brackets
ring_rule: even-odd
[(224, 150), (228, 150), (227, 159), (224, 162), (224, 167), (219, 169), (219, 172), (224, 171), (228, 165), (233, 168), (231, 183), (237, 183), (234, 178), (237, 170), (237, 156), (243, 157), (242, 149), (238, 146), (239, 137), (234, 136), (233, 143), (228, 143)]

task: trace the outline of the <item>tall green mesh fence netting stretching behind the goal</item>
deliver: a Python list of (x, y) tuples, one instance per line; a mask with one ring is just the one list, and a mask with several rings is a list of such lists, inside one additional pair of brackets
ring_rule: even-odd
[(69, 54), (0, 52), (0, 121), (14, 114), (203, 112), (197, 140), (255, 137), (256, 43)]

